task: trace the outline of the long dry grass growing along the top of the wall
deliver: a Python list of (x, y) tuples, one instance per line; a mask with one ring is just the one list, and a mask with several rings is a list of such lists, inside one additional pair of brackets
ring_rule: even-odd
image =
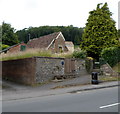
[(29, 58), (29, 57), (59, 57), (59, 58), (72, 58), (72, 53), (59, 53), (59, 54), (53, 54), (49, 50), (40, 50), (40, 49), (27, 49), (26, 51), (20, 51), (20, 52), (14, 52), (14, 53), (7, 53), (2, 54), (0, 56), (1, 60), (14, 60), (14, 59), (23, 59), (23, 58)]

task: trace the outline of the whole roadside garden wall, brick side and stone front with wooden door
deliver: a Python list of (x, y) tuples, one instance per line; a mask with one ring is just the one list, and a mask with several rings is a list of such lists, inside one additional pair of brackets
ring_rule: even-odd
[(87, 74), (85, 60), (51, 57), (34, 57), (2, 62), (2, 76), (14, 82), (32, 85)]

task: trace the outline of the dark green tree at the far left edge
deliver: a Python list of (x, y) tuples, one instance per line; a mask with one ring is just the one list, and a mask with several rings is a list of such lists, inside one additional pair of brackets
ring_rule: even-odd
[(15, 29), (10, 24), (2, 23), (2, 44), (14, 45), (17, 44), (18, 36), (15, 33)]

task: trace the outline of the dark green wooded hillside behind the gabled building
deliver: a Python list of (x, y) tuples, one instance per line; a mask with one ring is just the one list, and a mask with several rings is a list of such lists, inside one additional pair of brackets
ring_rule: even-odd
[(40, 36), (48, 35), (53, 32), (61, 31), (66, 41), (72, 41), (76, 45), (80, 45), (82, 40), (83, 28), (70, 26), (40, 26), (29, 27), (17, 31), (20, 41), (28, 42), (29, 38), (38, 38)]

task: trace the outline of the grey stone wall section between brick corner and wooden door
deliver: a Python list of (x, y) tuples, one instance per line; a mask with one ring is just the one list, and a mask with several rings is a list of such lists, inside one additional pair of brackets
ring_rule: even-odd
[(46, 82), (55, 76), (64, 75), (64, 59), (36, 58), (36, 82)]

